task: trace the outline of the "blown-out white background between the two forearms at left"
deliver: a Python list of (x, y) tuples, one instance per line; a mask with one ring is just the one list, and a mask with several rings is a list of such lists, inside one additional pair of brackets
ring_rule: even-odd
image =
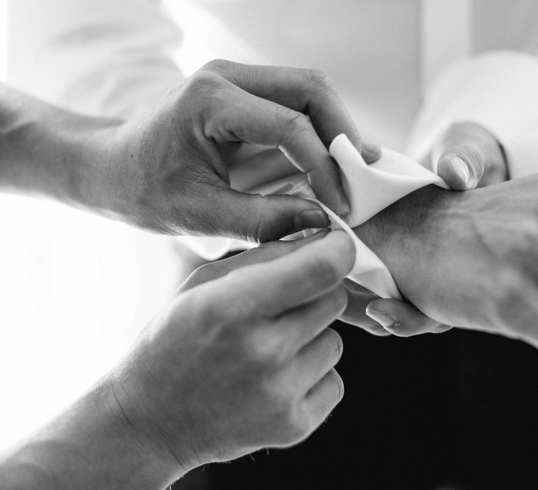
[[(5, 8), (0, 0), (2, 80)], [(163, 307), (179, 276), (163, 240), (0, 193), (0, 450), (88, 390)]]

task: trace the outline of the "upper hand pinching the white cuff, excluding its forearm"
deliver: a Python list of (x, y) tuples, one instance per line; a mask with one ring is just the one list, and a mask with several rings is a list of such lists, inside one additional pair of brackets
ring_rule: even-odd
[[(324, 228), (324, 212), (294, 196), (239, 193), (229, 185), (219, 146), (234, 141), (279, 148), (305, 172), (317, 197), (338, 214), (349, 204), (327, 145), (345, 132), (361, 141), (336, 89), (322, 72), (214, 61), (153, 114), (108, 138), (111, 177), (102, 204), (114, 216), (170, 234), (267, 241)], [(379, 157), (371, 146), (369, 161)]]

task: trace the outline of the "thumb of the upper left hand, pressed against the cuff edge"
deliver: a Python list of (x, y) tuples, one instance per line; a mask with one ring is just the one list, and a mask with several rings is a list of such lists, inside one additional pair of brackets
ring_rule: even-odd
[(275, 240), (310, 228), (326, 228), (329, 218), (315, 202), (291, 195), (240, 193), (222, 189), (214, 196), (218, 235), (247, 241)]

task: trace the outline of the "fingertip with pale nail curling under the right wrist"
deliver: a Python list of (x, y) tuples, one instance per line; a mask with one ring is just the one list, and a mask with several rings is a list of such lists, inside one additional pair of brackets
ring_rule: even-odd
[(397, 337), (441, 333), (452, 328), (429, 318), (411, 304), (398, 300), (375, 300), (366, 307), (366, 314)]

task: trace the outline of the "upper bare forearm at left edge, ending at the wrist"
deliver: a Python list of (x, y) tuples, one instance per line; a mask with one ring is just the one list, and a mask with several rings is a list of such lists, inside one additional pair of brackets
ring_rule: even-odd
[(103, 206), (101, 191), (111, 171), (99, 135), (117, 124), (0, 85), (0, 190)]

